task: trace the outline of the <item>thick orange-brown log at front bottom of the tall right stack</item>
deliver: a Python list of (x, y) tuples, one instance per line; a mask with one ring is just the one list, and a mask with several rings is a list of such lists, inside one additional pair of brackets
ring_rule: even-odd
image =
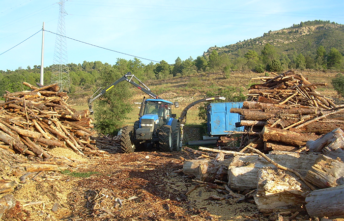
[(261, 131), (264, 141), (276, 141), (286, 143), (292, 146), (304, 146), (311, 139), (318, 138), (316, 135), (305, 135), (292, 131), (282, 130), (278, 128), (264, 127)]

